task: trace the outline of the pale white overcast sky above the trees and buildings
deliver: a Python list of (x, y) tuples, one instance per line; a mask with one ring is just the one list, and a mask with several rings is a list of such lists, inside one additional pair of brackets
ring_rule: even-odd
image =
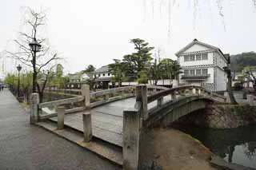
[[(142, 38), (162, 49), (162, 57), (173, 59), (174, 53), (194, 38), (218, 46), (223, 53), (256, 51), (256, 8), (252, 0), (220, 0), (223, 3), (219, 8), (216, 1), (200, 0), (195, 13), (193, 2), (171, 0), (169, 15), (169, 0), (2, 0), (0, 52), (17, 37), (21, 6), (47, 9), (48, 38), (66, 58), (66, 73), (121, 59), (133, 52), (131, 38)], [(18, 64), (7, 62), (1, 61), (0, 76), (14, 71)]]

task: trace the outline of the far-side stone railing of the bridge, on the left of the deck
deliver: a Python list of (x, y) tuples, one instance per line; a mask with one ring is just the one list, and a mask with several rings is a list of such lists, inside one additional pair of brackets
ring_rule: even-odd
[[(114, 89), (106, 89), (98, 92), (90, 93), (89, 85), (82, 85), (81, 96), (62, 99), (58, 101), (49, 101), (38, 104), (38, 94), (34, 93), (34, 101), (32, 105), (35, 109), (31, 109), (32, 115), (38, 121), (42, 121), (49, 117), (55, 117), (58, 115), (58, 106), (64, 107), (64, 114), (76, 113), (85, 109), (94, 108), (98, 105), (104, 105), (112, 101), (118, 101), (127, 97), (135, 96), (136, 86), (126, 86)], [(147, 85), (148, 92), (150, 94), (158, 93), (160, 90), (166, 90), (165, 87), (156, 85)], [(31, 106), (32, 107), (32, 106)]]

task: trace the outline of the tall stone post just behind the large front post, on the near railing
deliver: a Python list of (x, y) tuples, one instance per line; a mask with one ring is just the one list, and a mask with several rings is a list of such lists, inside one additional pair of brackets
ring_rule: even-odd
[(146, 120), (148, 115), (147, 112), (147, 87), (146, 85), (138, 85), (136, 86), (136, 101), (140, 101), (142, 103), (141, 109), (141, 117), (143, 120)]

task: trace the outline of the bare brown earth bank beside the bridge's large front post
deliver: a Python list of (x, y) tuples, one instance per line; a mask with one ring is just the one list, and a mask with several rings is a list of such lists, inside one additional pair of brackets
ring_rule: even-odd
[[(171, 128), (154, 128), (146, 132), (142, 146), (144, 164), (154, 160), (162, 169), (213, 170), (210, 152), (201, 142), (184, 132)], [(149, 149), (150, 148), (150, 149)]]

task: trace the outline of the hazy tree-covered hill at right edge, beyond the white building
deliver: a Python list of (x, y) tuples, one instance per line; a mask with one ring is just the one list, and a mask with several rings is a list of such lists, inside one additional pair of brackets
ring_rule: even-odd
[(238, 53), (236, 55), (230, 55), (231, 70), (234, 72), (240, 72), (247, 66), (256, 66), (256, 53)]

